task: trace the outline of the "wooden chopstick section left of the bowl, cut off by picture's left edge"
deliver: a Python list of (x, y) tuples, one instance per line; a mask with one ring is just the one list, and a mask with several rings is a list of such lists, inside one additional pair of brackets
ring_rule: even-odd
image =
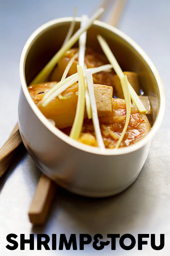
[(0, 149), (0, 177), (6, 172), (16, 153), (17, 147), (21, 144), (22, 139), (18, 129), (18, 123), (15, 125), (9, 139)]

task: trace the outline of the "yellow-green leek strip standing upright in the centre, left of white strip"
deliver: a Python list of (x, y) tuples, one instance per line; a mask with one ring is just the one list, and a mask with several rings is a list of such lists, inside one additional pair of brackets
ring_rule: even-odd
[(79, 95), (77, 101), (76, 114), (74, 123), (71, 128), (70, 137), (74, 140), (78, 140), (83, 126), (84, 110), (85, 110), (85, 83), (83, 69), (80, 65), (77, 65), (77, 72), (79, 78)]

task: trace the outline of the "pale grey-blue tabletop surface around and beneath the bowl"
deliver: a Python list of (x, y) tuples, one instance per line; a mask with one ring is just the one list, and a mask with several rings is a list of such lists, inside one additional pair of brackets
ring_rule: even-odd
[[(90, 15), (100, 1), (67, 0), (1, 0), (0, 1), (0, 146), (8, 138), (17, 121), (19, 98), (19, 59), (24, 43), (30, 34), (43, 23), (62, 16), (72, 16), (73, 7), (78, 6), (78, 16)], [(107, 199), (88, 199), (58, 189), (48, 221), (44, 227), (32, 227), (28, 209), (34, 195), (40, 171), (33, 164), (24, 146), (18, 150), (8, 171), (0, 180), (0, 255), (170, 255), (170, 1), (129, 0), (119, 29), (133, 38), (155, 64), (164, 84), (166, 111), (164, 121), (151, 143), (150, 153), (137, 181), (120, 195)], [(26, 239), (35, 234), (35, 250), (6, 249), (6, 236), (23, 233)], [(108, 233), (165, 234), (165, 246), (161, 251), (148, 245), (138, 251), (125, 251), (119, 246), (116, 251), (111, 245), (96, 251), (86, 245), (84, 251), (41, 251), (36, 250), (36, 234), (77, 235), (97, 233), (107, 237)], [(105, 239), (106, 240), (106, 239)], [(19, 237), (17, 238), (19, 242)], [(125, 240), (129, 245), (130, 241)]]

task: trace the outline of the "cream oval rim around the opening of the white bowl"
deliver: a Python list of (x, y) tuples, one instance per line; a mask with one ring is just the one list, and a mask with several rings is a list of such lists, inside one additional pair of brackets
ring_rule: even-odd
[[(131, 39), (129, 36), (127, 36), (125, 33), (123, 33), (121, 30), (119, 30), (107, 23), (104, 23), (99, 20), (95, 20), (93, 22), (94, 25), (97, 25), (98, 27), (105, 28), (105, 29), (109, 30), (111, 33), (116, 34), (116, 36), (120, 37), (122, 40), (126, 41), (131, 47), (133, 47), (134, 50), (136, 50), (138, 52), (138, 54), (140, 54), (142, 56), (143, 60), (146, 62), (146, 64), (148, 65), (149, 69), (151, 70), (152, 74), (155, 77), (155, 81), (157, 83), (157, 88), (158, 88), (158, 92), (159, 92), (159, 110), (158, 110), (157, 118), (156, 118), (150, 132), (145, 137), (143, 137), (141, 140), (139, 140), (136, 143), (134, 143), (133, 145), (130, 145), (127, 147), (121, 147), (118, 149), (114, 149), (114, 148), (113, 149), (100, 149), (98, 147), (88, 146), (79, 141), (75, 141), (74, 139), (70, 138), (68, 135), (66, 135), (65, 133), (60, 131), (58, 128), (54, 127), (48, 121), (48, 119), (41, 113), (41, 111), (38, 109), (38, 107), (32, 100), (32, 98), (28, 92), (28, 89), (27, 89), (28, 86), (26, 83), (25, 71), (24, 71), (28, 52), (29, 52), (30, 48), (32, 47), (33, 43), (36, 41), (36, 38), (38, 36), (40, 36), (40, 34), (44, 33), (45, 30), (48, 30), (49, 28), (55, 26), (56, 24), (60, 24), (60, 23), (64, 23), (64, 22), (67, 23), (67, 22), (71, 22), (72, 20), (73, 20), (72, 17), (63, 17), (63, 18), (50, 20), (50, 21), (46, 22), (45, 24), (41, 25), (39, 28), (37, 28), (31, 34), (31, 36), (28, 38), (27, 42), (25, 43), (25, 46), (23, 47), (23, 51), (21, 54), (20, 63), (19, 63), (19, 75), (20, 75), (21, 87), (22, 87), (24, 96), (25, 96), (29, 106), (31, 107), (32, 111), (37, 116), (37, 118), (40, 120), (40, 122), (42, 124), (44, 124), (44, 126), (50, 132), (52, 132), (59, 139), (66, 142), (70, 146), (73, 146), (76, 149), (79, 149), (79, 150), (82, 150), (82, 151), (85, 151), (88, 153), (96, 154), (96, 155), (124, 155), (124, 154), (129, 154), (131, 152), (134, 152), (134, 151), (142, 148), (143, 146), (145, 146), (145, 144), (147, 144), (147, 142), (149, 142), (151, 140), (151, 138), (158, 131), (158, 129), (162, 123), (162, 120), (164, 117), (164, 111), (165, 111), (164, 87), (163, 87), (162, 81), (160, 79), (160, 76), (158, 74), (158, 71), (155, 68), (155, 65), (153, 64), (151, 59), (147, 56), (147, 54), (142, 50), (142, 48), (133, 39)], [(81, 21), (81, 18), (77, 17), (76, 22), (80, 22), (80, 21)]]

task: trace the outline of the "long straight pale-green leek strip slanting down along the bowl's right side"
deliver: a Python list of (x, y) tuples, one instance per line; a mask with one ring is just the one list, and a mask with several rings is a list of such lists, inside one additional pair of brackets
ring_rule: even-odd
[[(108, 61), (112, 65), (113, 69), (115, 70), (116, 74), (118, 75), (119, 79), (121, 80), (124, 77), (124, 73), (121, 70), (120, 65), (118, 64), (115, 56), (113, 55), (113, 52), (111, 51), (110, 47), (108, 46), (108, 43), (106, 40), (101, 36), (97, 35), (97, 39), (100, 43), (100, 46), (106, 55)], [(130, 97), (132, 101), (134, 102), (135, 106), (138, 108), (139, 112), (146, 112), (146, 108), (143, 106), (141, 100), (139, 99), (137, 93), (135, 92), (134, 88), (131, 86), (131, 84), (128, 82), (129, 90), (130, 90)]]

